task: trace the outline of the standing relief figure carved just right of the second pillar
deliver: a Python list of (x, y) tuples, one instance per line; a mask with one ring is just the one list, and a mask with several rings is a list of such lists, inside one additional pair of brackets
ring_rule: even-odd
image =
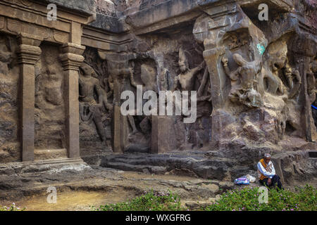
[[(106, 143), (106, 133), (100, 113), (104, 97), (102, 96), (99, 80), (92, 77), (92, 75), (94, 75), (94, 70), (89, 65), (83, 64), (80, 67), (80, 116), (82, 121), (94, 121), (101, 140)], [(94, 93), (97, 94), (98, 103), (94, 98)]]

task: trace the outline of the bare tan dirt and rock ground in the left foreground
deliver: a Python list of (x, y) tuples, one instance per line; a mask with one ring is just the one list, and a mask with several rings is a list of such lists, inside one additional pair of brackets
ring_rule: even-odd
[[(316, 180), (309, 183), (316, 186)], [(11, 185), (15, 185), (11, 191), (1, 191), (0, 205), (9, 206), (15, 203), (17, 207), (30, 211), (89, 211), (92, 210), (91, 206), (125, 202), (151, 189), (178, 193), (182, 203), (190, 207), (190, 203), (211, 203), (223, 191), (240, 188), (229, 181), (123, 172), (100, 167), (85, 169), (80, 174), (70, 171), (58, 174), (39, 173), (32, 176), (20, 174), (11, 179)], [(56, 203), (47, 201), (49, 186), (56, 187)]]

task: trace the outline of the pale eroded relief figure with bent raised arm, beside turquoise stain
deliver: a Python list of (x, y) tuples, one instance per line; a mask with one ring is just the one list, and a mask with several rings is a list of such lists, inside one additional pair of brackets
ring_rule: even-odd
[(256, 75), (261, 71), (261, 63), (259, 61), (249, 63), (237, 53), (233, 55), (233, 59), (239, 68), (232, 72), (228, 67), (228, 58), (223, 57), (222, 59), (225, 73), (231, 79), (230, 100), (232, 102), (240, 101), (250, 108), (261, 107), (263, 105), (262, 96), (256, 90)]

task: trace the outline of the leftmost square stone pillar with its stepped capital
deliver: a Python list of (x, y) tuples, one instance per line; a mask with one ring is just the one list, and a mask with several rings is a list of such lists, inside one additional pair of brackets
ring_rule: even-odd
[(22, 160), (34, 160), (35, 148), (35, 63), (42, 53), (42, 39), (29, 34), (18, 36), (18, 62), (20, 63), (20, 139)]

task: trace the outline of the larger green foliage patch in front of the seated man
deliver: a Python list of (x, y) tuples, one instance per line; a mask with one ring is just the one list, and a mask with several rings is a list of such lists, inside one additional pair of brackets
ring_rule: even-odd
[(207, 211), (316, 211), (316, 188), (306, 185), (295, 192), (271, 189), (268, 204), (259, 203), (259, 188), (227, 191), (220, 200), (206, 207)]

